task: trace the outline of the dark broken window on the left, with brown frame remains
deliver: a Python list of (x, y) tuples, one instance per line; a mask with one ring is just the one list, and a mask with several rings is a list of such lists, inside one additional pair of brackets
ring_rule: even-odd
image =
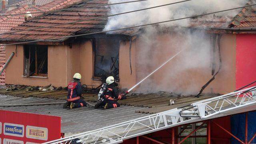
[(47, 76), (48, 46), (24, 45), (24, 75)]

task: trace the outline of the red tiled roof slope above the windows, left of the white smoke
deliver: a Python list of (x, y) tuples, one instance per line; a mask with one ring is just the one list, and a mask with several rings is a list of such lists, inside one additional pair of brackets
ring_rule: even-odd
[[(71, 10), (63, 10), (47, 15), (40, 16), (28, 22), (20, 24), (12, 28), (11, 31), (28, 30), (32, 28), (52, 26), (55, 24), (64, 24), (61, 26), (52, 26), (51, 28), (40, 28), (37, 30), (28, 30), (25, 32), (17, 32), (15, 34), (4, 34), (1, 38), (34, 40), (34, 39), (50, 39), (62, 38), (73, 34), (87, 34), (91, 32), (101, 32), (107, 22), (107, 18), (97, 20), (89, 20), (77, 22), (74, 24), (65, 24), (67, 22), (75, 22), (77, 20), (87, 20), (100, 16), (106, 16), (110, 8), (106, 6), (97, 6), (98, 4), (107, 4), (108, 0), (89, 0), (73, 5)], [(43, 8), (43, 7), (42, 7)], [(132, 34), (137, 30), (120, 30), (115, 34)]]

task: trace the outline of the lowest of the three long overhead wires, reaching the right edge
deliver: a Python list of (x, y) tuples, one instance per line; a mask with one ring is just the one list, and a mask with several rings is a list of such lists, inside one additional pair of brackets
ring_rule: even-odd
[[(26, 44), (26, 43), (32, 43), (32, 42), (47, 42), (52, 40), (53, 41), (60, 41), (61, 39), (65, 39), (65, 38), (73, 38), (73, 37), (78, 37), (78, 36), (86, 36), (86, 35), (92, 35), (92, 34), (100, 34), (100, 33), (105, 33), (105, 32), (113, 32), (113, 31), (117, 31), (117, 30), (125, 30), (125, 29), (131, 29), (131, 28), (138, 28), (138, 27), (144, 27), (144, 26), (149, 26), (149, 25), (155, 25), (155, 24), (162, 24), (165, 22), (172, 22), (172, 21), (177, 21), (177, 20), (184, 20), (184, 19), (188, 19), (188, 18), (195, 18), (195, 17), (199, 17), (199, 16), (205, 16), (205, 15), (209, 15), (209, 14), (215, 14), (215, 13), (219, 13), (219, 12), (226, 12), (226, 11), (230, 11), (230, 10), (236, 10), (239, 8), (246, 8), (249, 6), (255, 6), (256, 4), (252, 4), (252, 5), (248, 5), (248, 6), (241, 6), (241, 7), (237, 7), (237, 8), (230, 8), (230, 9), (226, 9), (226, 10), (220, 10), (220, 11), (216, 11), (216, 12), (210, 12), (210, 13), (206, 13), (206, 14), (199, 14), (199, 15), (194, 15), (194, 16), (188, 16), (188, 17), (184, 17), (184, 18), (177, 18), (177, 19), (173, 19), (173, 20), (166, 20), (166, 21), (162, 21), (162, 22), (154, 22), (154, 23), (150, 23), (150, 24), (143, 24), (143, 25), (139, 25), (139, 26), (130, 26), (130, 27), (126, 27), (126, 28), (118, 28), (115, 30), (105, 30), (105, 31), (101, 31), (101, 32), (92, 32), (92, 33), (87, 33), (87, 34), (78, 34), (78, 35), (73, 35), (73, 36), (64, 36), (61, 38), (51, 38), (51, 39), (46, 39), (46, 40), (34, 40), (34, 41), (27, 41), (27, 42), (18, 42), (18, 43), (12, 43), (12, 44)], [(0, 40), (4, 40), (4, 39), (0, 39)], [(7, 46), (7, 45), (12, 45), (12, 44), (4, 44), (3, 46)]]

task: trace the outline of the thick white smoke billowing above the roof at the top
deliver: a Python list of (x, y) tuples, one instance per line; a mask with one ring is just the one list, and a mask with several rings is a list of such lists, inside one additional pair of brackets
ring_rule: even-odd
[[(132, 1), (132, 0), (126, 0)], [(122, 12), (129, 12), (132, 10), (139, 10), (142, 8), (148, 8), (152, 6), (159, 6), (163, 4), (169, 4), (172, 2), (179, 2), (181, 0), (148, 0), (142, 2), (133, 2), (127, 4), (118, 4), (110, 6), (111, 14), (118, 14)], [(109, 3), (124, 2), (124, 0), (109, 0)], [(113, 30), (116, 28), (124, 28), (127, 26), (137, 26), (142, 24), (160, 22), (165, 20), (172, 20), (176, 18), (183, 18), (187, 16), (193, 16), (197, 14), (203, 14), (208, 12), (215, 12), (219, 10), (226, 10), (229, 8), (236, 8), (244, 6), (248, 0), (192, 0), (188, 2), (182, 2), (173, 4), (170, 6), (163, 6), (159, 8), (143, 10), (139, 12), (133, 12), (129, 14), (123, 14), (119, 16), (109, 17), (105, 30)], [(234, 17), (238, 10), (232, 10), (228, 12), (215, 14), (216, 16)], [(213, 18), (213, 15), (210, 16)], [(167, 26), (187, 26), (189, 20), (179, 20), (176, 22), (167, 22), (162, 25)]]

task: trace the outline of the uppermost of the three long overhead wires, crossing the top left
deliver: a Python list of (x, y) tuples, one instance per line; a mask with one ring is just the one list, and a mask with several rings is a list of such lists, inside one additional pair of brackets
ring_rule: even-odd
[[(94, 5), (93, 7), (100, 7), (100, 6), (112, 6), (112, 5), (117, 5), (117, 4), (126, 4), (126, 3), (132, 3), (132, 2), (142, 2), (142, 1), (147, 1), (147, 0), (134, 0), (134, 1), (128, 1), (128, 2), (118, 2), (118, 3), (112, 3), (112, 4), (99, 4), (99, 5)], [(79, 8), (79, 7), (78, 7)], [(88, 6), (88, 7), (81, 7), (81, 8), (92, 8), (92, 6)], [(73, 10), (73, 9), (77, 9), (77, 8), (66, 8), (66, 9), (60, 9), (60, 10), (51, 10), (51, 11), (47, 11), (47, 12), (30, 12), (29, 14), (46, 14), (46, 13), (50, 13), (50, 12), (60, 12), (60, 11), (65, 11), (65, 10)], [(24, 15), (27, 13), (20, 13), (20, 14), (3, 14), (0, 16), (18, 16), (18, 15)]]

